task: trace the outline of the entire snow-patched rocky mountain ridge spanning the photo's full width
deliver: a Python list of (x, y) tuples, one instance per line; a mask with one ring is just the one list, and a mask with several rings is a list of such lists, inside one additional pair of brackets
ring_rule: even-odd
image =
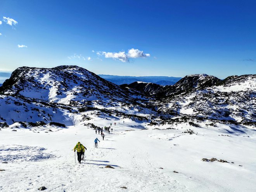
[[(0, 122), (80, 125), (115, 117), (145, 125), (255, 126), (256, 75), (189, 75), (175, 85), (115, 85), (78, 66), (20, 67), (0, 87)], [(199, 125), (200, 126), (200, 125)]]

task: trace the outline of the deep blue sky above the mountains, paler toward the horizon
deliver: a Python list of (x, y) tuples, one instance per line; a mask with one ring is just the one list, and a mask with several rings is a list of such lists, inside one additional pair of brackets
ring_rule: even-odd
[(253, 0), (0, 4), (0, 71), (78, 65), (128, 76), (256, 73)]

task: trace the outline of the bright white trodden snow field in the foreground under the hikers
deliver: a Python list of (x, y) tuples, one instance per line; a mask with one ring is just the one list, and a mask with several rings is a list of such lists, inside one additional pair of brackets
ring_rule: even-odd
[[(0, 149), (17, 149), (12, 150), (12, 156), (23, 149), (29, 156), (36, 156), (38, 149), (52, 158), (22, 162), (6, 159), (8, 164), (0, 164), (0, 169), (5, 170), (0, 172), (0, 191), (38, 191), (42, 186), (47, 188), (45, 191), (60, 192), (255, 191), (255, 130), (185, 124), (175, 130), (140, 130), (142, 125), (128, 119), (125, 124), (107, 119), (94, 122), (103, 127), (110, 123), (113, 132), (104, 133), (104, 141), (95, 130), (83, 125), (50, 127), (54, 132), (48, 133), (45, 131), (49, 128), (38, 128), (35, 133), (2, 129)], [(182, 133), (189, 128), (197, 134)], [(94, 147), (96, 137), (100, 140), (98, 149)], [(81, 164), (74, 162), (73, 148), (78, 141), (87, 148)], [(0, 160), (8, 153), (0, 150)], [(201, 161), (211, 157), (230, 163)], [(106, 165), (115, 169), (104, 168)], [(123, 186), (127, 189), (120, 188)]]

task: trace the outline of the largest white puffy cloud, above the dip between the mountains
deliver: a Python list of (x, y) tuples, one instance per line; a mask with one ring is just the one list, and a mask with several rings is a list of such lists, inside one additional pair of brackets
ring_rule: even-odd
[(99, 51), (97, 52), (97, 55), (99, 56), (105, 56), (105, 58), (112, 58), (112, 59), (118, 59), (122, 62), (129, 62), (130, 58), (139, 58), (139, 57), (150, 57), (150, 54), (144, 54), (143, 51), (140, 51), (138, 49), (131, 48), (128, 50), (128, 53), (125, 52), (105, 52), (105, 51)]

